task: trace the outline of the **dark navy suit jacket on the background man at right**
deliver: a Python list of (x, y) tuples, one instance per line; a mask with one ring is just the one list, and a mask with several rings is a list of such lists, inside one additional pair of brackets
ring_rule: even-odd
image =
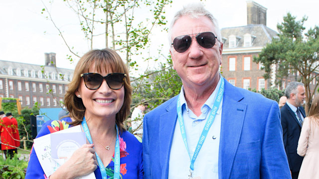
[[(299, 172), (304, 157), (297, 154), (297, 146), (301, 133), (301, 124), (296, 117), (296, 114), (286, 103), (281, 109), (281, 125), (283, 127), (284, 146), (288, 157), (288, 163), (292, 172)], [(300, 107), (300, 112), (306, 117), (306, 112), (303, 107)]]

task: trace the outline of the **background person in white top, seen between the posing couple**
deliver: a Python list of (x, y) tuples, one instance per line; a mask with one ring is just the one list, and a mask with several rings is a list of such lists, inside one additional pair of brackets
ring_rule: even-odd
[(131, 115), (131, 124), (132, 124), (132, 131), (134, 134), (137, 134), (139, 137), (143, 135), (143, 124), (142, 119), (144, 117), (144, 111), (148, 107), (148, 104), (140, 104), (134, 108), (132, 115)]

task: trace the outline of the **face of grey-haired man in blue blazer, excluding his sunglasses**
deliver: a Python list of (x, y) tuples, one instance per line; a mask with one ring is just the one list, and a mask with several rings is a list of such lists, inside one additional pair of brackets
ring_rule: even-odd
[[(201, 32), (215, 33), (215, 27), (205, 16), (191, 18), (189, 16), (180, 17), (171, 29), (171, 42), (175, 37), (181, 35), (196, 36)], [(182, 53), (170, 48), (173, 68), (182, 80), (184, 86), (209, 86), (218, 83), (219, 66), (221, 65), (222, 43), (216, 39), (212, 48), (206, 49), (200, 46), (196, 38), (191, 38), (190, 47)]]

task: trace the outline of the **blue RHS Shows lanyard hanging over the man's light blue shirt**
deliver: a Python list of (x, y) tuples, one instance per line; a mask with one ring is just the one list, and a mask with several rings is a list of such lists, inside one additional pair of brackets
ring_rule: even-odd
[[(197, 146), (196, 146), (195, 152), (193, 154), (193, 157), (189, 156), (189, 158), (190, 158), (190, 167), (189, 168), (191, 171), (194, 171), (195, 160), (196, 160), (198, 153), (199, 153), (199, 151), (200, 151), (200, 149), (201, 149), (201, 147), (202, 147), (202, 145), (207, 137), (208, 131), (215, 120), (216, 112), (217, 112), (219, 105), (221, 103), (221, 99), (223, 98), (223, 94), (224, 94), (224, 79), (221, 78), (221, 84), (220, 84), (220, 87), (218, 89), (218, 93), (217, 93), (217, 96), (215, 98), (213, 108), (211, 109), (211, 112), (210, 112), (209, 117), (206, 121), (205, 127), (204, 127), (203, 131), (201, 132), (201, 135), (200, 135), (199, 140), (197, 142)], [(177, 116), (178, 116), (178, 121), (179, 121), (181, 137), (183, 138), (184, 145), (185, 145), (187, 153), (189, 155), (189, 151), (188, 151), (188, 147), (187, 147), (186, 131), (185, 131), (185, 126), (184, 126), (183, 116), (181, 113), (180, 97), (179, 96), (177, 99)]]

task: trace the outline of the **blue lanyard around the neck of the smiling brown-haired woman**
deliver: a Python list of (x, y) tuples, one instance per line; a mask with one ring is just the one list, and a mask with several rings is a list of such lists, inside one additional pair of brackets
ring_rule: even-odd
[[(90, 144), (93, 144), (88, 124), (85, 121), (85, 117), (83, 117), (82, 126), (85, 132), (86, 138), (88, 139)], [(98, 160), (102, 179), (107, 179), (105, 167), (100, 157), (98, 156), (98, 154), (95, 153), (95, 155), (96, 155), (96, 159)], [(115, 143), (115, 153), (114, 153), (114, 179), (120, 179), (120, 142), (119, 142), (119, 134), (118, 134), (117, 125), (116, 125), (116, 143)]]

